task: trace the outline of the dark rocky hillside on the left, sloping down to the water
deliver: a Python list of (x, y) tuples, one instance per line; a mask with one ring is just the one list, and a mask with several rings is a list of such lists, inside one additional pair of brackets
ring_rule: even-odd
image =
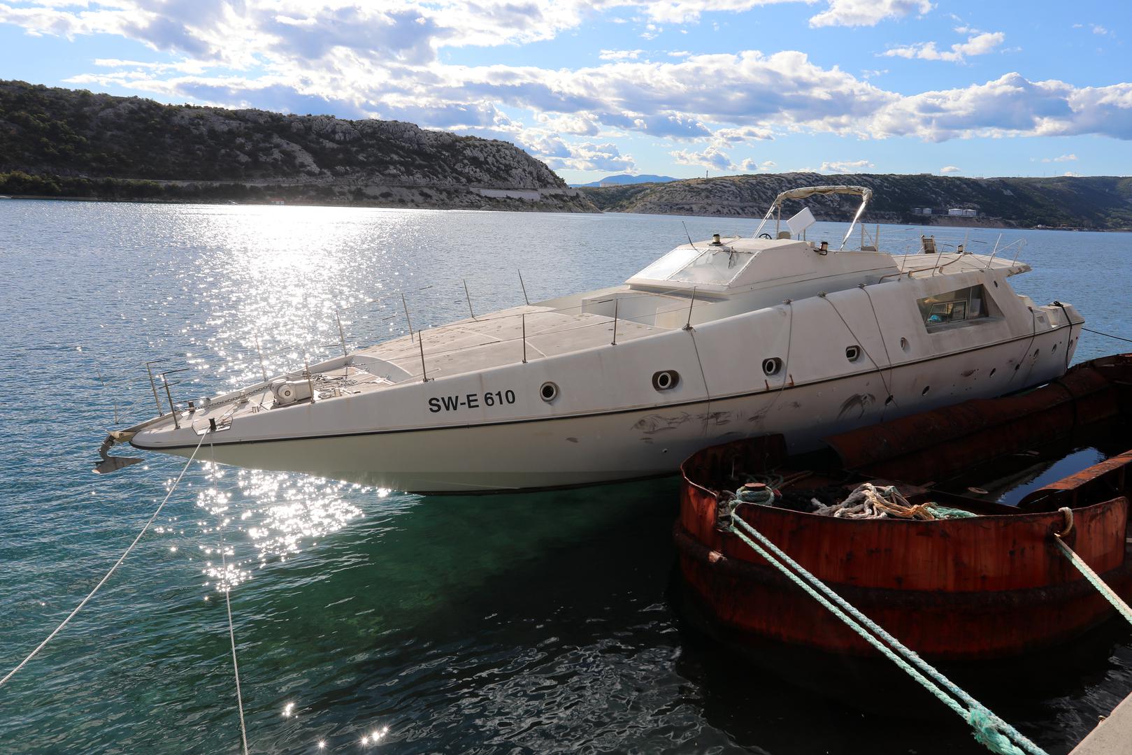
[(506, 141), (2, 80), (0, 192), (594, 209)]

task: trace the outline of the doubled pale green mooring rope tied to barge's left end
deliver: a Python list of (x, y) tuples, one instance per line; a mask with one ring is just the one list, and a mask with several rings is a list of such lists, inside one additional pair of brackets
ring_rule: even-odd
[[(766, 549), (762, 548), (754, 540), (751, 540), (751, 538), (740, 532), (739, 529), (736, 527), (736, 524), (766, 546)], [(962, 717), (962, 719), (967, 721), (972, 729), (975, 729), (975, 739), (977, 741), (985, 745), (992, 752), (998, 753), (998, 755), (1026, 755), (1026, 753), (1030, 753), (1030, 755), (1047, 755), (1044, 749), (1030, 741), (1021, 732), (1014, 729), (1014, 727), (1000, 719), (989, 709), (943, 676), (943, 674), (941, 674), (935, 667), (921, 659), (917, 653), (906, 647), (900, 643), (900, 641), (849, 604), (848, 601), (833, 592), (833, 590), (831, 590), (824, 582), (815, 577), (798, 563), (782, 552), (778, 546), (771, 542), (755, 527), (751, 526), (751, 524), (744, 522), (738, 516), (735, 516), (734, 509), (730, 531), (731, 533), (738, 535), (743, 542), (754, 549), (756, 554), (766, 559), (769, 564), (780, 570), (787, 578), (809, 593), (809, 595), (821, 603), (826, 610), (841, 619), (846, 626), (860, 635), (863, 640), (881, 651), (889, 660), (900, 667), (900, 669), (918, 681), (925, 689), (935, 695), (944, 705), (950, 707), (958, 715)], [(772, 551), (774, 556), (767, 552), (767, 549)], [(775, 558), (775, 556), (778, 558)], [(787, 565), (789, 565), (790, 568), (788, 568)], [(790, 570), (791, 568), (795, 570)], [(797, 574), (795, 572), (797, 572)], [(803, 577), (805, 577), (805, 580)], [(821, 590), (824, 595), (820, 594), (817, 592), (818, 590)], [(897, 652), (893, 652), (892, 649), (885, 646), (878, 637), (892, 645), (892, 649), (899, 651), (900, 655), (898, 655)], [(901, 658), (901, 655), (903, 655), (903, 658)], [(908, 661), (911, 661), (911, 663), (919, 667), (924, 674), (920, 674), (920, 671), (912, 668)], [(938, 684), (928, 679), (925, 674), (931, 676)], [(946, 692), (941, 688), (941, 685), (946, 689)], [(949, 692), (951, 693), (950, 695), (947, 694)], [(966, 703), (967, 707), (960, 705), (955, 698)], [(1019, 748), (1019, 745), (1021, 745), (1024, 750)]]

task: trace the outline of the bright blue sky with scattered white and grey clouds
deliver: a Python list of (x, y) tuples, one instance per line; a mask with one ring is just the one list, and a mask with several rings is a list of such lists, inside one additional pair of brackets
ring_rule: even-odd
[(0, 0), (0, 78), (611, 173), (1127, 175), (1127, 0)]

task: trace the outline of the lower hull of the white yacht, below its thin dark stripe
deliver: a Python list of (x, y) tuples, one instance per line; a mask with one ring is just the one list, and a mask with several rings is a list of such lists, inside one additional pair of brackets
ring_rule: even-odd
[[(209, 458), (394, 490), (478, 494), (574, 487), (674, 473), (680, 461), (724, 440), (780, 432), (791, 453), (866, 424), (969, 398), (994, 397), (1065, 371), (1054, 344), (1069, 328), (1028, 340), (1045, 354), (1017, 363), (1018, 342), (867, 374), (680, 404), (548, 419), (240, 440), (215, 434)], [(1020, 366), (1021, 367), (1021, 366)], [(887, 391), (891, 389), (892, 398)], [(194, 447), (153, 447), (189, 456)]]

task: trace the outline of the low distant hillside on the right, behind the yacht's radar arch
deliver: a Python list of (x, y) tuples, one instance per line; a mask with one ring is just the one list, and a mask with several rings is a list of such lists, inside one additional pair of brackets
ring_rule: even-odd
[[(854, 183), (873, 189), (865, 222), (1132, 230), (1132, 178), (1126, 177), (970, 179), (927, 174), (783, 173), (582, 191), (603, 212), (757, 217), (766, 212), (779, 191), (820, 183)], [(833, 196), (814, 197), (806, 204), (818, 220), (847, 221), (858, 203), (854, 197)], [(933, 215), (914, 214), (914, 207), (931, 207)], [(952, 207), (976, 209), (978, 217), (946, 217), (946, 211)], [(788, 212), (791, 212), (789, 207)]]

